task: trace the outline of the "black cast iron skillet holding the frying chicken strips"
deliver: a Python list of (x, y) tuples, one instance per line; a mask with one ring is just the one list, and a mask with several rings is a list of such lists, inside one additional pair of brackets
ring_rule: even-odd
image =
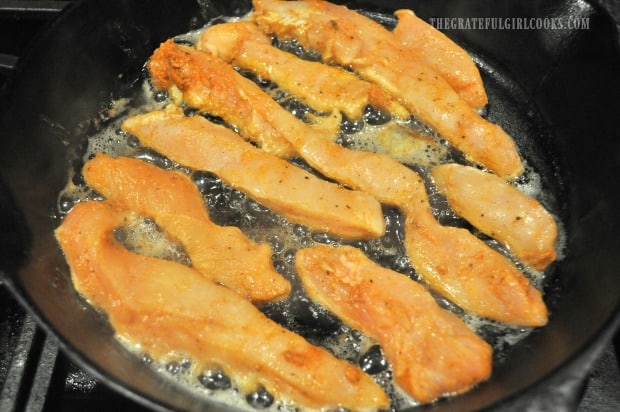
[[(377, 1), (349, 2), (376, 10)], [(385, 5), (384, 5), (385, 6)], [(112, 98), (139, 87), (164, 39), (248, 2), (84, 1), (70, 6), (19, 62), (2, 99), (0, 273), (9, 289), (76, 362), (152, 408), (227, 410), (162, 379), (113, 339), (75, 294), (53, 238), (57, 194), (106, 119)], [(523, 410), (538, 388), (589, 365), (620, 317), (620, 54), (606, 15), (581, 1), (398, 1), (424, 17), (581, 16), (587, 30), (452, 30), (478, 59), (488, 116), (542, 172), (567, 233), (566, 257), (545, 285), (549, 325), (496, 360), (492, 378), (437, 410)]]

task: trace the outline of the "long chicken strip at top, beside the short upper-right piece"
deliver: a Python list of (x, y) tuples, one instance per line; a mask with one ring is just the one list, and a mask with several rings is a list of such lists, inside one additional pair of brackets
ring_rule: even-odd
[(478, 115), (433, 69), (410, 59), (405, 47), (375, 21), (320, 0), (254, 0), (252, 19), (265, 32), (297, 39), (326, 62), (351, 67), (397, 97), (472, 162), (504, 178), (523, 164), (512, 138)]

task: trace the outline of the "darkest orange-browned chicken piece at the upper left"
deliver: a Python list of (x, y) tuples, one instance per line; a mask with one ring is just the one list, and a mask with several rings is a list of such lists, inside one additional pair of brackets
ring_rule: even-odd
[[(284, 158), (295, 153), (282, 132), (271, 125), (271, 104), (277, 103), (251, 80), (223, 75), (234, 70), (219, 57), (168, 40), (155, 50), (147, 66), (155, 87), (178, 88), (185, 104), (223, 118), (266, 152)], [(254, 105), (258, 100), (263, 103)]]

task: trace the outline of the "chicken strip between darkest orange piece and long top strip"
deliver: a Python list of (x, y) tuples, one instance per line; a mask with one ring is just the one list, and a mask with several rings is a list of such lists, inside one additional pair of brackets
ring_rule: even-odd
[(318, 112), (337, 109), (349, 119), (359, 119), (364, 108), (372, 104), (397, 117), (409, 117), (409, 112), (377, 85), (335, 66), (282, 51), (249, 21), (211, 26), (196, 47), (276, 83)]

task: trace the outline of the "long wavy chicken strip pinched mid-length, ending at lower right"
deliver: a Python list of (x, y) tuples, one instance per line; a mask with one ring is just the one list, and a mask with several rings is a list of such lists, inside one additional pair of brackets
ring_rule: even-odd
[(350, 150), (310, 133), (286, 136), (321, 174), (400, 208), (411, 263), (433, 289), (480, 316), (522, 326), (547, 322), (540, 292), (510, 259), (469, 231), (437, 222), (415, 171), (387, 155)]

